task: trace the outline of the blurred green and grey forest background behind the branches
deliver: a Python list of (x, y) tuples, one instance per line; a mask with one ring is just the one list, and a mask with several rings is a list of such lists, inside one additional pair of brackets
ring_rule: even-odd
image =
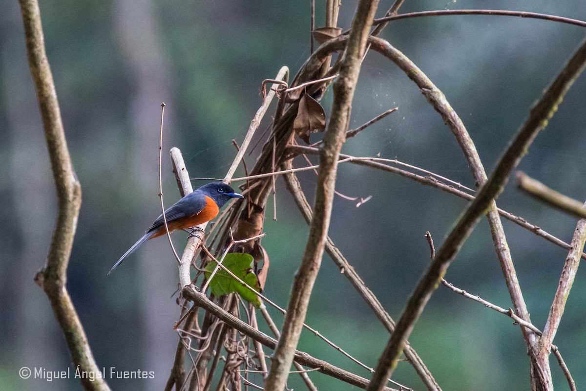
[[(316, 3), (316, 26), (321, 26), (323, 4)], [(349, 28), (354, 3), (342, 5), (343, 28)], [(381, 2), (379, 16), (391, 3)], [(446, 3), (407, 0), (400, 12), (444, 9)], [(172, 297), (177, 268), (164, 239), (149, 242), (106, 275), (160, 213), (159, 105), (167, 105), (163, 193), (168, 206), (179, 195), (166, 152), (179, 147), (192, 178), (223, 178), (235, 154), (231, 140), (242, 140), (261, 104), (261, 81), (272, 79), (283, 65), (295, 74), (309, 56), (309, 6), (309, 1), (40, 2), (47, 55), (83, 189), (69, 266), (70, 294), (98, 366), (155, 373), (150, 380), (108, 380), (113, 389), (161, 390), (178, 340), (172, 329), (178, 317)], [(449, 4), (486, 6), (586, 20), (586, 2), (569, 0)], [(18, 3), (7, 1), (2, 8), (0, 390), (77, 390), (81, 386), (76, 379), (47, 382), (18, 376), (23, 366), (66, 370), (71, 361), (47, 298), (33, 283), (45, 262), (56, 196)], [(585, 32), (536, 19), (440, 16), (391, 22), (381, 37), (444, 91), (490, 172)], [(586, 196), (585, 96), (582, 76), (519, 167), (581, 200)], [(322, 104), (327, 112), (331, 91)], [(369, 53), (351, 126), (395, 106), (397, 113), (348, 140), (342, 152), (397, 158), (473, 187), (464, 156), (440, 115), (394, 64)], [(257, 152), (247, 157), (249, 166)], [(301, 178), (312, 194), (315, 175), (305, 173)], [(349, 196), (373, 196), (360, 208), (336, 197), (330, 235), (396, 318), (429, 262), (425, 231), (439, 246), (466, 203), (398, 176), (347, 164), (340, 165), (337, 189)], [(498, 205), (565, 242), (571, 239), (576, 219), (520, 195), (512, 183)], [(281, 180), (277, 216), (276, 222), (265, 224), (263, 245), (271, 257), (265, 294), (286, 307), (308, 229)], [(567, 251), (503, 221), (532, 321), (541, 328)], [(185, 238), (184, 233), (173, 234), (178, 247)], [(486, 220), (465, 243), (446, 278), (472, 294), (510, 306)], [(554, 340), (578, 389), (586, 387), (585, 308), (586, 278), (580, 270)], [(273, 316), (280, 325), (282, 316)], [(388, 338), (329, 259), (323, 261), (306, 322), (369, 366), (376, 366)], [(529, 389), (529, 360), (519, 327), (445, 287), (432, 297), (410, 341), (445, 390)], [(306, 331), (299, 349), (370, 376)], [(567, 389), (553, 358), (551, 367), (556, 389)], [(311, 377), (321, 389), (349, 388), (318, 373)], [(394, 379), (423, 389), (407, 363), (399, 363)], [(301, 387), (294, 376), (289, 382)]]

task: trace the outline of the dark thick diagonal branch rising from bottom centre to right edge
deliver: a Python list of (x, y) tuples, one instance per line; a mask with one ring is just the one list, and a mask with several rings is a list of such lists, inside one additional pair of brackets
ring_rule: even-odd
[[(438, 250), (435, 259), (430, 267), (421, 278), (407, 302), (407, 307), (403, 311), (401, 318), (397, 322), (397, 327), (377, 365), (376, 372), (373, 375), (368, 390), (379, 390), (384, 386), (388, 378), (397, 365), (397, 360), (406, 339), (413, 331), (417, 318), (423, 311), (425, 304), (430, 299), (435, 287), (444, 276), (449, 264), (454, 259), (466, 237), (472, 232), (480, 217), (488, 212), (493, 200), (502, 192), (503, 186), (513, 171), (519, 164), (520, 159), (526, 154), (529, 145), (539, 132), (546, 127), (547, 120), (551, 118), (557, 110), (560, 100), (580, 75), (586, 63), (586, 41), (582, 43), (577, 52), (572, 56), (556, 80), (548, 87), (541, 99), (530, 111), (529, 118), (523, 127), (517, 132), (515, 138), (510, 142), (505, 154), (499, 159), (495, 171), (486, 183), (482, 186), (478, 195), (472, 204), (466, 209), (464, 215), (458, 220), (456, 226), (449, 233), (444, 244)], [(536, 370), (544, 370), (544, 363), (537, 363)], [(547, 368), (548, 369), (548, 368)], [(551, 376), (544, 373), (533, 373), (538, 376), (536, 380), (543, 389), (552, 389)], [(533, 381), (533, 380), (532, 380)], [(532, 384), (535, 386), (535, 384)]]

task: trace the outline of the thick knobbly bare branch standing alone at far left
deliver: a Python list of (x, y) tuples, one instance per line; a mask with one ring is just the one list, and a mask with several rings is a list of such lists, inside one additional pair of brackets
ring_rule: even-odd
[[(67, 291), (67, 266), (81, 207), (81, 185), (77, 180), (61, 120), (59, 101), (45, 52), (45, 38), (36, 0), (20, 0), (25, 30), (26, 54), (35, 84), (39, 111), (45, 131), (47, 152), (57, 191), (59, 210), (45, 266), (35, 275), (35, 282), (45, 291), (53, 313), (67, 342), (73, 365), (86, 373), (98, 373), (86, 332)], [(86, 390), (110, 390), (102, 378), (80, 379)]]

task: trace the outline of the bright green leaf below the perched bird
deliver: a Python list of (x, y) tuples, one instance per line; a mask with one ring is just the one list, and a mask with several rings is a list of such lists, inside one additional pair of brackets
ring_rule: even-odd
[[(242, 281), (253, 287), (256, 291), (259, 291), (260, 288), (258, 287), (257, 276), (254, 274), (252, 263), (253, 256), (246, 253), (228, 253), (222, 262), (222, 264), (228, 270), (234, 273), (234, 276), (240, 278)], [(205, 269), (206, 278), (210, 278), (216, 266), (217, 264), (214, 261), (211, 261), (207, 264)], [(254, 292), (248, 289), (240, 281), (236, 280), (236, 278), (230, 276), (230, 274), (228, 274), (227, 271), (222, 268), (220, 268), (212, 278), (212, 281), (210, 282), (210, 289), (216, 296), (222, 296), (236, 292), (244, 300), (254, 304), (255, 307), (260, 306), (258, 296), (255, 295)]]

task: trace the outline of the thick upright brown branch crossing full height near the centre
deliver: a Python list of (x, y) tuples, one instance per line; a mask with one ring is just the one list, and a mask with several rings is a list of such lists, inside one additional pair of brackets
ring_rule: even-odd
[(309, 239), (301, 265), (295, 275), (281, 338), (265, 382), (268, 391), (280, 391), (287, 385), (289, 368), (303, 327), (309, 297), (321, 265), (332, 212), (338, 155), (348, 129), (352, 98), (377, 5), (378, 0), (359, 1), (340, 76), (333, 83), (332, 114), (323, 136), (323, 148), (319, 159), (314, 219), (309, 227)]

